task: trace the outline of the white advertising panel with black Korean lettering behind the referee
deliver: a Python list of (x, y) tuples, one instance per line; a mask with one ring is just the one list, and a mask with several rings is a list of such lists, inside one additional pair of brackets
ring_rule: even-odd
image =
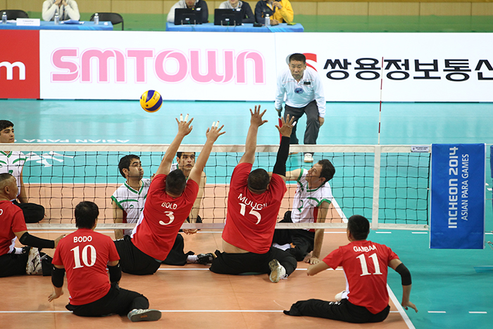
[(493, 101), (493, 33), (277, 33), (275, 45), (278, 69), (310, 58), (327, 101), (380, 101), (380, 85), (382, 101)]

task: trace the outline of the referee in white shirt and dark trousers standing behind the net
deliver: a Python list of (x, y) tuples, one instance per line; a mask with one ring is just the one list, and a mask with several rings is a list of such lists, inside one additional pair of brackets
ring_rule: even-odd
[[(325, 120), (325, 96), (322, 82), (316, 70), (306, 68), (304, 54), (289, 56), (288, 66), (289, 69), (277, 77), (275, 110), (281, 113), (282, 101), (286, 95), (284, 118), (286, 119), (289, 114), (289, 117), (294, 117), (294, 121), (297, 122), (306, 113), (304, 144), (317, 144), (318, 130)], [(295, 125), (289, 144), (299, 144), (296, 130)], [(313, 152), (304, 154), (304, 162), (313, 162)]]

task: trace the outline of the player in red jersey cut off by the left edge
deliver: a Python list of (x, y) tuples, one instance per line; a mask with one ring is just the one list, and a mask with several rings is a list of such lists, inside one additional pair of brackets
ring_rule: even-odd
[[(53, 249), (64, 235), (55, 240), (30, 235), (22, 209), (11, 201), (17, 193), (15, 177), (0, 173), (0, 278), (21, 274), (50, 275), (51, 263), (42, 261), (37, 248)], [(15, 248), (15, 239), (30, 247)]]

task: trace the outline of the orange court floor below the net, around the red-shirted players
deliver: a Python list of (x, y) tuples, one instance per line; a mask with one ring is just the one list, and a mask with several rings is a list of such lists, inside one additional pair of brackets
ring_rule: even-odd
[[(113, 237), (113, 232), (102, 231)], [(54, 238), (61, 232), (31, 232), (39, 237)], [(66, 233), (66, 232), (65, 232)], [(201, 231), (185, 236), (185, 251), (196, 253), (220, 249), (220, 232)], [(343, 230), (325, 232), (322, 254), (346, 244)], [(52, 254), (52, 250), (47, 251)], [(208, 266), (161, 266), (154, 275), (123, 273), (120, 286), (141, 292), (151, 308), (163, 312), (156, 323), (131, 323), (126, 317), (81, 318), (65, 309), (68, 304), (66, 278), (62, 297), (49, 303), (51, 279), (41, 276), (17, 276), (0, 279), (1, 328), (414, 328), (402, 318), (394, 302), (383, 323), (356, 325), (321, 318), (292, 317), (282, 314), (300, 299), (332, 300), (344, 290), (343, 271), (328, 270), (306, 276), (306, 263), (287, 280), (270, 283), (268, 275), (219, 275)], [(401, 292), (396, 292), (397, 296)], [(391, 294), (392, 297), (392, 294)], [(400, 306), (399, 306), (400, 307)]]

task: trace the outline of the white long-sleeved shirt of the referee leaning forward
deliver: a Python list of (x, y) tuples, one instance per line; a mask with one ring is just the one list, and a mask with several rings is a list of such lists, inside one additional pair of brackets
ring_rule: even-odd
[(286, 95), (286, 104), (292, 107), (304, 107), (313, 99), (317, 101), (318, 116), (325, 118), (325, 96), (323, 85), (318, 73), (313, 68), (306, 67), (299, 82), (291, 75), (289, 68), (277, 77), (275, 92), (275, 108), (282, 108)]

